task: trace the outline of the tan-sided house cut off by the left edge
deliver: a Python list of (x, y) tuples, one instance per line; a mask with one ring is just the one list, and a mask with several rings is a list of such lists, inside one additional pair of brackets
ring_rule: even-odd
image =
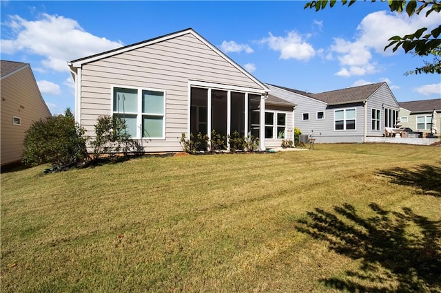
[(28, 63), (0, 61), (1, 166), (21, 161), (25, 131), (51, 116)]

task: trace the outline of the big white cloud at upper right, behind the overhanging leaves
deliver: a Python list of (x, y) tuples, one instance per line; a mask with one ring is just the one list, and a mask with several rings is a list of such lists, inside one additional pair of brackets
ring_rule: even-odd
[[(372, 53), (390, 55), (392, 50), (384, 52), (384, 47), (391, 36), (411, 34), (418, 28), (429, 30), (439, 25), (439, 16), (432, 13), (425, 17), (425, 12), (408, 17), (406, 13), (397, 14), (378, 11), (368, 14), (358, 25), (355, 41), (335, 38), (331, 52), (336, 53), (340, 61), (338, 76), (357, 76), (380, 71), (378, 63), (372, 61)], [(398, 53), (396, 53), (398, 54)]]

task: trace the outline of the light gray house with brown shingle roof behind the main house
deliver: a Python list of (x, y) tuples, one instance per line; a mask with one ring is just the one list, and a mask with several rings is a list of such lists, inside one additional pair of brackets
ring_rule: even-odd
[(316, 142), (368, 142), (394, 127), (400, 109), (387, 83), (311, 94), (269, 85), (271, 95), (296, 104), (294, 126)]

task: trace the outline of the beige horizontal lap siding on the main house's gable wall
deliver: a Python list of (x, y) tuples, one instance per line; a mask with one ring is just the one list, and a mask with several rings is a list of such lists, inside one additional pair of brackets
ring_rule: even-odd
[(165, 140), (149, 140), (146, 151), (181, 151), (187, 132), (188, 80), (261, 89), (192, 34), (83, 65), (81, 124), (93, 136), (99, 115), (112, 114), (112, 85), (161, 89), (166, 93)]

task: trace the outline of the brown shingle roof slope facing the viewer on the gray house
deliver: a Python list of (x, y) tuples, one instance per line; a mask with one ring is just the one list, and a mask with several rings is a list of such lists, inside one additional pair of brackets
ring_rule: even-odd
[(369, 98), (384, 83), (372, 83), (359, 87), (348, 87), (346, 89), (336, 89), (315, 94), (314, 97), (331, 105), (347, 104), (349, 102), (363, 102)]

